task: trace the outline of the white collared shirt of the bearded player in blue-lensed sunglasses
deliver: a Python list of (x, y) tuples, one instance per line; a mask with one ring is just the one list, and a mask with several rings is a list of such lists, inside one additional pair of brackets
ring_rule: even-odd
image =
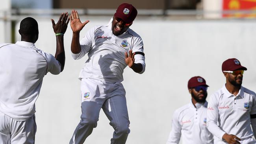
[(207, 102), (195, 106), (190, 102), (174, 111), (167, 144), (178, 144), (181, 135), (183, 144), (213, 144), (213, 135), (206, 127)]

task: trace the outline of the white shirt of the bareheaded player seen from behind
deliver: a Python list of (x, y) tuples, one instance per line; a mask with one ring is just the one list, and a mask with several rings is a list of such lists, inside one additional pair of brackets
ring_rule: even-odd
[(0, 44), (0, 111), (18, 121), (30, 118), (47, 72), (59, 74), (59, 62), (33, 43)]

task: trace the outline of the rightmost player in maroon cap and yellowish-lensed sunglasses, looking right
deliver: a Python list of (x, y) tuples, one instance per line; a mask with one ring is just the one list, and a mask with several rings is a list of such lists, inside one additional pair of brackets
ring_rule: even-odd
[(207, 111), (214, 144), (256, 144), (256, 95), (242, 86), (244, 70), (234, 58), (222, 64), (226, 83), (211, 95)]

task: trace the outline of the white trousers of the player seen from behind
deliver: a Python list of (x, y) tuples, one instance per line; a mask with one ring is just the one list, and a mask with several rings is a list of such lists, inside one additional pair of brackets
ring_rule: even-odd
[(36, 129), (35, 115), (17, 121), (0, 112), (0, 144), (34, 144)]

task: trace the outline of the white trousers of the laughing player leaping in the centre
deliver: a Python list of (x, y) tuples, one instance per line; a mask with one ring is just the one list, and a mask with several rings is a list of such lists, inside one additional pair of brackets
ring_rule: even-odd
[[(82, 114), (69, 144), (83, 144), (97, 126), (100, 109), (114, 129), (111, 144), (125, 144), (129, 129), (125, 90), (122, 83), (106, 83), (83, 78), (81, 82)], [(107, 142), (106, 142), (107, 143)]]

